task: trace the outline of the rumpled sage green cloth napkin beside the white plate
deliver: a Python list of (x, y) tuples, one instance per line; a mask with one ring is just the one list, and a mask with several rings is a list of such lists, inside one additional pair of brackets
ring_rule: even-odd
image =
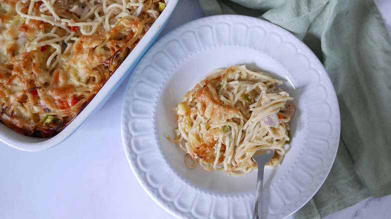
[(321, 218), (391, 194), (391, 41), (372, 0), (199, 0), (206, 15), (244, 14), (301, 39), (337, 93), (341, 138), (331, 171), (295, 218)]

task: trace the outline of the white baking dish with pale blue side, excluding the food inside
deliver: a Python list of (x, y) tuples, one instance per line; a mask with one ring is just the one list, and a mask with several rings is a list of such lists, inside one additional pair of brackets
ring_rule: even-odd
[(137, 46), (126, 57), (106, 84), (82, 110), (82, 112), (60, 133), (50, 138), (37, 138), (20, 134), (0, 123), (0, 140), (10, 146), (27, 151), (40, 151), (53, 147), (69, 137), (94, 111), (97, 111), (110, 95), (118, 88), (123, 79), (132, 71), (139, 59), (156, 39), (167, 23), (178, 0), (165, 0), (166, 7), (160, 16), (145, 33)]

